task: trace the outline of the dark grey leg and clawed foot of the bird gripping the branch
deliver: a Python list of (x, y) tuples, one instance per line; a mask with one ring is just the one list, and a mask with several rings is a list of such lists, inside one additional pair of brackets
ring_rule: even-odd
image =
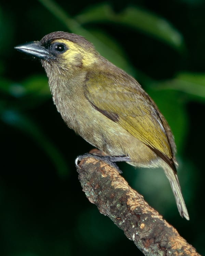
[(119, 169), (119, 167), (117, 166), (116, 162), (129, 162), (131, 161), (131, 159), (128, 156), (97, 156), (96, 154), (91, 154), (91, 153), (85, 153), (81, 156), (78, 156), (76, 158), (76, 165), (78, 165), (79, 161), (81, 161), (84, 158), (87, 157), (92, 157), (98, 161), (104, 161), (107, 164), (109, 164), (110, 166), (113, 166), (114, 168), (116, 168), (118, 170), (119, 173), (122, 173), (122, 171)]

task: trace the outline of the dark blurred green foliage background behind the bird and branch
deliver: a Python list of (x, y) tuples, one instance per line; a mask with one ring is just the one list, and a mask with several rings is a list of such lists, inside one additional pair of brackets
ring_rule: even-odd
[(205, 1), (2, 1), (0, 255), (142, 255), (82, 192), (74, 160), (92, 149), (56, 111), (44, 70), (13, 48), (63, 30), (133, 75), (169, 122), (190, 221), (162, 170), (124, 177), (205, 253)]

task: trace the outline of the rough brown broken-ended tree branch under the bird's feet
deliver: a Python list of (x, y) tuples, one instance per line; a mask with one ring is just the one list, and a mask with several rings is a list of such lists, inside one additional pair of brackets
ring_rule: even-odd
[(87, 157), (77, 167), (86, 197), (107, 215), (147, 256), (200, 256), (143, 197), (129, 187), (117, 169)]

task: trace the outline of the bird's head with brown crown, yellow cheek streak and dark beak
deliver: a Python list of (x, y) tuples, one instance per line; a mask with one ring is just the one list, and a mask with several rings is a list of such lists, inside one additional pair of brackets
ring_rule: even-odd
[(82, 72), (91, 68), (98, 58), (93, 44), (81, 36), (62, 31), (50, 33), (40, 41), (18, 45), (15, 49), (39, 58), (48, 76)]

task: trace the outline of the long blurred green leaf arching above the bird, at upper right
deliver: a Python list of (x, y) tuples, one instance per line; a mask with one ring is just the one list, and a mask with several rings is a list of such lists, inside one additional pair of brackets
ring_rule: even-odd
[(116, 14), (107, 3), (91, 6), (76, 16), (81, 24), (89, 22), (114, 22), (126, 25), (146, 33), (149, 36), (165, 42), (178, 51), (185, 49), (181, 33), (165, 18), (148, 10), (132, 6), (120, 14)]

